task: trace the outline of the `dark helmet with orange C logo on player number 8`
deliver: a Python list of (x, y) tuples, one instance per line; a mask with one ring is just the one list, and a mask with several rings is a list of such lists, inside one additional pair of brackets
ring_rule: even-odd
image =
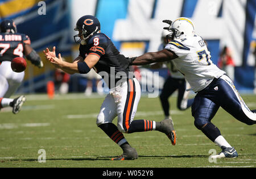
[[(76, 43), (86, 41), (90, 36), (101, 30), (101, 24), (98, 19), (93, 15), (84, 15), (77, 20), (75, 31), (79, 31), (79, 34), (74, 36)], [(77, 40), (79, 38), (79, 40)]]

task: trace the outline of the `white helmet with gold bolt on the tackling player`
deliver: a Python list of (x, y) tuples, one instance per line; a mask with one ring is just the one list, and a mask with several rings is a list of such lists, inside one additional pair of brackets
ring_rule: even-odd
[(172, 39), (184, 39), (189, 36), (195, 36), (195, 25), (193, 24), (191, 19), (188, 18), (177, 18), (168, 28), (168, 31), (172, 32), (170, 34)]

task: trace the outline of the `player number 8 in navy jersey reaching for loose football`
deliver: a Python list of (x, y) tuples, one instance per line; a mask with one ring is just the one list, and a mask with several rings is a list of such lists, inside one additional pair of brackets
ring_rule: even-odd
[[(126, 57), (119, 53), (108, 36), (100, 32), (98, 19), (92, 15), (82, 16), (77, 20), (74, 30), (79, 32), (74, 39), (80, 43), (80, 55), (73, 63), (63, 61), (60, 54), (56, 57), (56, 47), (53, 47), (52, 51), (47, 48), (44, 53), (46, 59), (56, 68), (70, 74), (88, 73), (93, 68), (108, 84), (110, 93), (106, 95), (101, 105), (96, 123), (110, 139), (123, 149), (123, 154), (112, 160), (138, 158), (137, 151), (130, 146), (122, 132), (156, 130), (166, 134), (171, 143), (175, 145), (176, 133), (171, 119), (161, 122), (145, 119), (133, 120), (141, 98), (141, 86), (130, 71)], [(112, 123), (115, 116), (118, 117), (117, 126)]]

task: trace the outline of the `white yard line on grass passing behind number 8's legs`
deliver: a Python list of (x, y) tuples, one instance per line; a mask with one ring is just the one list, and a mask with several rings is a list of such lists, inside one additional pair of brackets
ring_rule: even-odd
[[(172, 115), (181, 115), (183, 114), (181, 111), (172, 110)], [(163, 111), (137, 111), (135, 117), (137, 116), (148, 116), (148, 115), (164, 115)], [(98, 113), (91, 113), (91, 114), (70, 114), (66, 115), (65, 118), (68, 119), (81, 119), (81, 118), (97, 118)]]

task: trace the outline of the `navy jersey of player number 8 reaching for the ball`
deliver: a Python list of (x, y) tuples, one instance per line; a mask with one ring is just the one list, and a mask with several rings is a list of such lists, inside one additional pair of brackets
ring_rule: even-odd
[[(98, 63), (94, 65), (93, 69), (101, 75), (101, 77), (109, 85), (109, 88), (113, 88), (113, 85), (115, 85), (117, 81), (120, 81), (121, 79), (126, 80), (134, 77), (133, 73), (131, 73), (129, 65), (126, 65), (127, 59), (125, 56), (119, 53), (112, 41), (105, 34), (94, 34), (87, 41), (86, 45), (80, 44), (79, 51), (80, 56), (83, 59), (85, 59), (85, 57), (89, 54), (96, 55), (100, 58)], [(108, 73), (108, 79), (105, 78), (106, 75), (104, 74), (106, 73), (104, 72)], [(114, 82), (113, 85), (109, 84), (111, 81)]]

